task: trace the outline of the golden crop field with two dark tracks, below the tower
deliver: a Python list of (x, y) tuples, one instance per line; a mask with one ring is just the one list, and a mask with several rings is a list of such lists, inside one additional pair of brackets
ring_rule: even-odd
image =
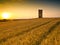
[(0, 45), (60, 45), (60, 18), (0, 21)]

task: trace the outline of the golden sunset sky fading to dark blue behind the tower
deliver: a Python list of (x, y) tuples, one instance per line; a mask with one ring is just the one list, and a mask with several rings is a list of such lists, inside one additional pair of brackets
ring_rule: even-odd
[(38, 18), (38, 10), (43, 10), (43, 18), (60, 17), (59, 0), (0, 0), (2, 13), (11, 13), (10, 19)]

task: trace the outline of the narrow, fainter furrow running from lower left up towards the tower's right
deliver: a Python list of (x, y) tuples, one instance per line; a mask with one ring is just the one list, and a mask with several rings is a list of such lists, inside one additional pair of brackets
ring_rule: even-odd
[[(50, 21), (49, 21), (49, 22), (50, 22)], [(12, 37), (15, 37), (15, 36), (22, 35), (22, 34), (25, 34), (25, 33), (27, 33), (27, 32), (30, 32), (30, 31), (32, 31), (34, 28), (37, 28), (37, 27), (42, 26), (42, 25), (45, 25), (45, 24), (47, 24), (47, 23), (49, 23), (49, 22), (46, 22), (46, 23), (43, 23), (43, 24), (38, 24), (38, 25), (36, 25), (36, 26), (31, 27), (30, 29), (28, 28), (27, 30), (22, 31), (22, 32), (19, 32), (19, 33), (13, 35), (13, 36), (9, 36), (9, 37), (3, 38), (3, 39), (0, 40), (0, 43), (1, 43), (1, 42), (5, 42), (5, 41), (6, 41), (7, 39), (9, 39), (9, 38), (12, 38)]]

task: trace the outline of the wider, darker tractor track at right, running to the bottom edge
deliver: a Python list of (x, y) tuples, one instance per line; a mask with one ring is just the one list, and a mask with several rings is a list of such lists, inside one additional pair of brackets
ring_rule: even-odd
[(54, 25), (48, 30), (48, 32), (43, 33), (43, 34), (39, 37), (39, 39), (38, 39), (34, 44), (32, 44), (32, 45), (41, 45), (42, 41), (43, 41), (44, 39), (46, 39), (46, 37), (47, 37), (51, 32), (55, 31), (54, 29), (55, 29), (57, 26), (59, 26), (59, 25), (60, 25), (60, 22), (57, 22), (56, 24), (54, 24)]

